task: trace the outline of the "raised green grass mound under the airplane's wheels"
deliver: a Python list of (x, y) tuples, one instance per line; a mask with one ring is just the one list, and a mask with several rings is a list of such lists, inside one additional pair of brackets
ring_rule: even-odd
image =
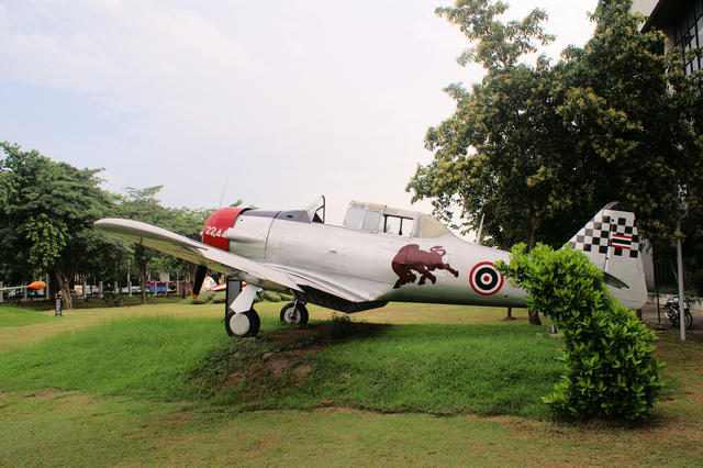
[[(215, 397), (215, 403), (247, 410), (335, 404), (546, 417), (539, 397), (560, 370), (559, 341), (524, 324), (387, 325), (320, 347), (316, 335), (272, 339), (271, 331), (286, 328), (270, 314), (257, 341), (230, 338), (216, 317), (105, 320), (0, 356), (0, 388), (155, 401)], [(232, 375), (239, 377), (234, 386)]]

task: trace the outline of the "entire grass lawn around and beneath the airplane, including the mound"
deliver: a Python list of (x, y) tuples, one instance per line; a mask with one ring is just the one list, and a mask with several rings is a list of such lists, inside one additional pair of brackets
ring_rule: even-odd
[(389, 304), (332, 339), (331, 311), (310, 308), (315, 334), (281, 305), (256, 305), (256, 341), (225, 335), (222, 304), (0, 307), (0, 466), (703, 460), (701, 343), (662, 335), (673, 390), (649, 422), (568, 424), (539, 401), (560, 341), (523, 311)]

